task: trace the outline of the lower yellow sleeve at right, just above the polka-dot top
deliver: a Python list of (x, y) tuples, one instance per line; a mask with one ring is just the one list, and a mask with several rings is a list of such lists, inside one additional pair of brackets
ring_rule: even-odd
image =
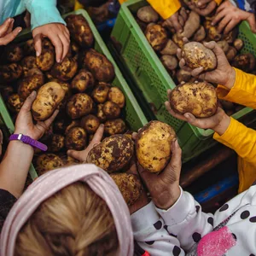
[(247, 162), (256, 163), (256, 131), (247, 128), (236, 119), (231, 118), (230, 126), (222, 136), (215, 132), (213, 138), (234, 149)]

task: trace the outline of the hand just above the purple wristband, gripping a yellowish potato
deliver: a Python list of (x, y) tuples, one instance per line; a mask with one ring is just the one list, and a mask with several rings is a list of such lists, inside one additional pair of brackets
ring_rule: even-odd
[(55, 113), (53, 113), (49, 119), (44, 122), (39, 121), (34, 125), (31, 108), (36, 96), (36, 91), (33, 91), (32, 94), (26, 98), (15, 123), (15, 134), (22, 133), (26, 136), (32, 137), (34, 140), (38, 140), (44, 135), (44, 132), (48, 130), (49, 125), (51, 125), (56, 115), (59, 113), (59, 110), (55, 110)]

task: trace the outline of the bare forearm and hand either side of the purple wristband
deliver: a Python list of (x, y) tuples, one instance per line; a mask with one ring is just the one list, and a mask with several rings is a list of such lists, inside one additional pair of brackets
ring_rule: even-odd
[[(46, 121), (38, 122), (36, 125), (32, 121), (32, 102), (34, 102), (37, 94), (32, 92), (26, 98), (15, 124), (15, 134), (24, 134), (38, 140), (44, 135), (44, 131), (55, 119), (55, 113)], [(26, 183), (26, 176), (32, 163), (34, 149), (32, 146), (19, 141), (11, 141), (4, 154), (3, 161), (0, 165), (0, 189), (8, 190), (9, 193), (20, 197)]]

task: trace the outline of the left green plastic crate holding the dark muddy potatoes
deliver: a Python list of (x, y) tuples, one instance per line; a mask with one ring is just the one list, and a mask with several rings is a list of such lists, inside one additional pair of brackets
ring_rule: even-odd
[[(88, 21), (90, 25), (90, 29), (94, 34), (95, 37), (95, 49), (106, 55), (108, 60), (113, 63), (114, 71), (115, 71), (115, 79), (113, 80), (113, 85), (119, 87), (123, 93), (125, 94), (125, 120), (130, 125), (132, 131), (137, 131), (138, 129), (142, 128), (143, 125), (146, 125), (148, 123), (148, 120), (143, 114), (142, 109), (137, 103), (136, 98), (133, 96), (128, 84), (125, 82), (125, 79), (123, 75), (119, 71), (119, 67), (116, 65), (115, 61), (113, 61), (112, 55), (109, 53), (108, 48), (106, 44), (102, 41), (102, 38), (100, 34), (96, 30), (96, 26), (93, 24), (93, 22), (90, 20), (90, 16), (87, 14), (87, 12), (84, 9), (78, 9), (70, 14), (67, 15), (83, 15), (84, 18)], [(64, 18), (67, 16), (64, 15)], [(30, 31), (25, 30), (24, 32), (20, 33), (20, 36), (16, 38), (16, 43), (22, 43), (26, 41), (27, 39), (32, 38), (32, 34)], [(3, 123), (8, 128), (9, 133), (13, 133), (15, 130), (14, 123), (9, 115), (8, 109), (6, 108), (2, 97), (0, 96), (0, 116), (3, 120)], [(0, 118), (0, 121), (1, 121)], [(1, 122), (0, 122), (1, 124)], [(30, 168), (30, 175), (32, 179), (35, 179), (38, 177), (37, 172), (35, 171), (35, 168), (31, 166)]]

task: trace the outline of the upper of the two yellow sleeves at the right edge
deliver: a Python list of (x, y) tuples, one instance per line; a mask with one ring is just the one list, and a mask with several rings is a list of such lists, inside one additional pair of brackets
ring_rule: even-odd
[(231, 90), (218, 85), (218, 98), (256, 108), (256, 76), (236, 69), (236, 81)]

